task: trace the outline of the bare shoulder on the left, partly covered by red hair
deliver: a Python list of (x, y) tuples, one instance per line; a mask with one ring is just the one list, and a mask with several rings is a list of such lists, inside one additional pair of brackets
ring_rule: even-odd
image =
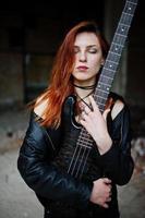
[(48, 99), (45, 99), (44, 96), (38, 97), (34, 106), (34, 112), (36, 113), (36, 116), (44, 118), (47, 106)]

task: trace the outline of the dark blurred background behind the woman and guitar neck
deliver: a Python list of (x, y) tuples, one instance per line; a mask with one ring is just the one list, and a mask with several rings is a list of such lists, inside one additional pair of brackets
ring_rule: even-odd
[[(0, 108), (22, 107), (47, 87), (56, 51), (78, 21), (97, 21), (111, 43), (124, 3), (124, 0), (4, 1), (0, 7)], [(131, 107), (136, 135), (144, 134), (143, 10), (143, 0), (138, 0), (112, 86)]]

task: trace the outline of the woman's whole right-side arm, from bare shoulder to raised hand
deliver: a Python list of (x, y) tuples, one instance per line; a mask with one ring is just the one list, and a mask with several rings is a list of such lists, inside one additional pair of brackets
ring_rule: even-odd
[[(86, 128), (95, 142), (97, 159), (104, 175), (117, 184), (125, 184), (131, 179), (134, 164), (131, 157), (130, 112), (125, 104), (118, 101), (112, 111), (111, 121), (107, 125), (107, 113), (101, 114), (95, 100), (90, 98), (93, 110), (85, 107), (81, 123)], [(111, 126), (111, 130), (110, 130)]]

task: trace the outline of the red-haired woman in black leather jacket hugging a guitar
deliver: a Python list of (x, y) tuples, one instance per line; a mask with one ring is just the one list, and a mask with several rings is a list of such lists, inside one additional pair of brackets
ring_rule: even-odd
[(50, 85), (33, 105), (17, 168), (46, 218), (119, 217), (116, 185), (130, 181), (134, 165), (124, 100), (110, 93), (101, 113), (94, 99), (107, 52), (94, 22), (75, 25), (58, 51)]

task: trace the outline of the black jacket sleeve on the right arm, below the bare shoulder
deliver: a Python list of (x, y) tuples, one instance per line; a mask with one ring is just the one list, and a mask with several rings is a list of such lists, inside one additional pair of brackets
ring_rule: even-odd
[(123, 185), (131, 179), (134, 162), (131, 157), (130, 111), (126, 106), (111, 124), (112, 145), (99, 157), (105, 174), (117, 184)]

